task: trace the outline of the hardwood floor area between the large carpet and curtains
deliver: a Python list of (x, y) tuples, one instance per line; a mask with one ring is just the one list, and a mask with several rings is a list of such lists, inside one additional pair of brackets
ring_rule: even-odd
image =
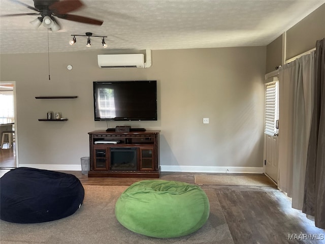
[[(278, 190), (238, 188), (216, 192), (235, 243), (325, 243), (325, 232), (301, 211), (291, 208), (291, 200)], [(301, 234), (315, 238), (290, 240)]]

